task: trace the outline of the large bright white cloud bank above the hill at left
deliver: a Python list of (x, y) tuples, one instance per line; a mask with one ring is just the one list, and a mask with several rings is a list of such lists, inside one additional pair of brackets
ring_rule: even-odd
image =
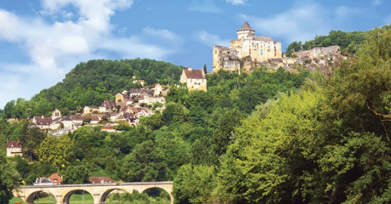
[[(175, 50), (145, 43), (136, 36), (115, 36), (110, 18), (116, 10), (131, 7), (132, 0), (42, 0), (42, 10), (35, 18), (24, 18), (0, 10), (0, 40), (21, 46), (31, 62), (0, 64), (0, 106), (19, 97), (30, 98), (43, 88), (60, 81), (66, 72), (81, 61), (120, 57), (147, 57), (164, 60)], [(65, 8), (74, 8), (73, 13)], [(65, 20), (48, 23), (46, 17), (63, 16)], [(70, 19), (73, 19), (70, 20)], [(165, 38), (176, 35), (167, 30), (147, 27), (143, 32), (162, 32)], [(8, 71), (7, 71), (8, 70)], [(9, 70), (12, 70), (10, 72)]]

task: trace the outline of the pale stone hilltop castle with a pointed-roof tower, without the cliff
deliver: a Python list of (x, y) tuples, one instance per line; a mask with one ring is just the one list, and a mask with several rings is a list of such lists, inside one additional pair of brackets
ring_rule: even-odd
[(220, 69), (240, 73), (244, 57), (252, 62), (263, 62), (269, 59), (281, 59), (281, 42), (271, 37), (256, 36), (253, 28), (244, 22), (236, 32), (238, 39), (230, 42), (230, 48), (213, 45), (213, 72)]

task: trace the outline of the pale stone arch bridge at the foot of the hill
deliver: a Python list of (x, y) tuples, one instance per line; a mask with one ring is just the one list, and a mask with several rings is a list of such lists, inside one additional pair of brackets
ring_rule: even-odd
[(159, 188), (167, 191), (171, 197), (171, 203), (174, 203), (172, 195), (173, 182), (132, 182), (132, 183), (111, 183), (111, 184), (66, 184), (66, 185), (48, 185), (48, 186), (23, 186), (14, 191), (15, 197), (20, 197), (24, 202), (33, 203), (36, 193), (51, 193), (57, 204), (69, 204), (69, 198), (76, 191), (86, 191), (94, 198), (94, 204), (103, 204), (107, 196), (114, 190), (123, 190), (132, 193), (148, 192), (151, 189)]

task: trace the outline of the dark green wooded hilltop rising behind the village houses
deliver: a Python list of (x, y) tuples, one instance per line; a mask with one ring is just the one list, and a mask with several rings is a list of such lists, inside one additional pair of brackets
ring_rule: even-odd
[(132, 76), (144, 79), (146, 84), (173, 84), (179, 82), (180, 66), (149, 59), (91, 60), (76, 65), (64, 78), (49, 89), (42, 90), (30, 101), (17, 99), (4, 108), (6, 118), (50, 113), (54, 108), (62, 112), (86, 105), (100, 105), (105, 99), (124, 89), (138, 88)]

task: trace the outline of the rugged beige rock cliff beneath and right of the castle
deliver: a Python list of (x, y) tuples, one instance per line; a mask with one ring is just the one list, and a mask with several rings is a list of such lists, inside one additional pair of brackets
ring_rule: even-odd
[(307, 69), (314, 71), (319, 69), (325, 76), (336, 69), (340, 63), (350, 58), (342, 52), (339, 46), (315, 47), (311, 50), (303, 50), (292, 53), (295, 57), (286, 57), (282, 59), (269, 60), (265, 62), (254, 62), (251, 58), (244, 57), (239, 59), (235, 51), (224, 50), (224, 57), (220, 62), (225, 70), (251, 73), (255, 68), (265, 66), (268, 69), (278, 69), (280, 67), (287, 71), (293, 69)]

